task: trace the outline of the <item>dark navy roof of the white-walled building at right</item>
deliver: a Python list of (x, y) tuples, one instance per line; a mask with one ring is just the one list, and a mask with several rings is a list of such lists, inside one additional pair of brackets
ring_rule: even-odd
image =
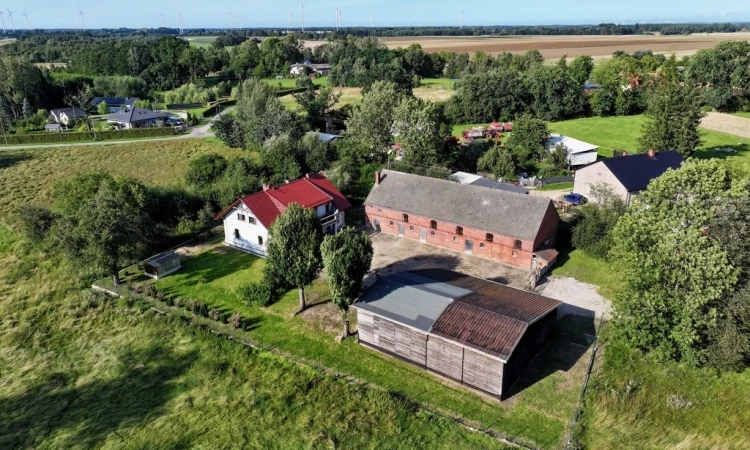
[(668, 169), (679, 169), (684, 159), (677, 151), (658, 152), (655, 157), (648, 153), (607, 158), (601, 162), (620, 180), (628, 192), (642, 191), (654, 178)]

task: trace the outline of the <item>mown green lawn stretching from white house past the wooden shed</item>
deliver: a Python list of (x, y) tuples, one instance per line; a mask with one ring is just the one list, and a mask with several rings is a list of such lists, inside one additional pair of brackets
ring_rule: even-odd
[[(216, 241), (215, 241), (216, 242)], [(259, 281), (264, 261), (227, 247), (212, 247), (185, 259), (184, 269), (156, 283), (167, 295), (199, 300), (209, 308), (225, 313), (240, 312), (251, 324), (248, 335), (265, 345), (272, 345), (306, 361), (385, 387), (405, 398), (423, 401), (432, 407), (464, 416), (477, 424), (492, 425), (501, 433), (537, 446), (556, 448), (561, 444), (580, 392), (585, 371), (585, 347), (572, 344), (569, 330), (591, 333), (591, 324), (580, 324), (567, 317), (559, 325), (566, 338), (551, 339), (531, 370), (517, 386), (520, 393), (498, 406), (459, 386), (441, 382), (422, 369), (386, 357), (347, 339), (334, 342), (340, 331), (340, 316), (330, 307), (327, 286), (317, 281), (308, 289), (315, 320), (295, 316), (298, 307), (296, 291), (268, 308), (249, 306), (235, 294), (242, 283)], [(140, 278), (142, 281), (143, 278)], [(140, 282), (140, 281), (139, 281)], [(326, 312), (327, 311), (327, 312)], [(333, 324), (331, 331), (325, 326)], [(583, 330), (586, 331), (583, 331)], [(572, 355), (572, 356), (571, 356)], [(569, 358), (573, 358), (572, 361)], [(572, 364), (578, 361), (575, 366)], [(565, 370), (560, 368), (565, 367)], [(542, 375), (540, 375), (542, 374)]]

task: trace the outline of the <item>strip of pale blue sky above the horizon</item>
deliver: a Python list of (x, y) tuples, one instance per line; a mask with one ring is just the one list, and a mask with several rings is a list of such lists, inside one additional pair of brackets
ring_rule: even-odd
[[(458, 25), (464, 10), (464, 25), (545, 25), (601, 22), (727, 22), (750, 21), (750, 2), (740, 0), (527, 0), (489, 2), (479, 0), (309, 0), (305, 1), (306, 26), (333, 26), (334, 8), (341, 9), (343, 26), (368, 25), (370, 11), (375, 26)], [(299, 1), (293, 0), (0, 0), (6, 28), (10, 20), (5, 8), (14, 12), (16, 28), (26, 27), (23, 12), (32, 28), (74, 28), (80, 26), (78, 5), (87, 28), (159, 27), (164, 14), (167, 26), (177, 26), (182, 12), (185, 28), (229, 27), (232, 13), (235, 27), (242, 16), (244, 27), (299, 27)]]

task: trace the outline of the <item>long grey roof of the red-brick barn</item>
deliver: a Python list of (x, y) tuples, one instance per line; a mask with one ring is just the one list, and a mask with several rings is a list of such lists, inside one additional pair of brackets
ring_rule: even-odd
[(384, 170), (365, 204), (534, 241), (551, 200)]

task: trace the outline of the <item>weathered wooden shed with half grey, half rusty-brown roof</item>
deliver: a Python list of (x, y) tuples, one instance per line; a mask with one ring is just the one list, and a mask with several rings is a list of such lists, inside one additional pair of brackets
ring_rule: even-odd
[(504, 398), (552, 332), (560, 304), (420, 269), (380, 278), (352, 308), (360, 344)]

